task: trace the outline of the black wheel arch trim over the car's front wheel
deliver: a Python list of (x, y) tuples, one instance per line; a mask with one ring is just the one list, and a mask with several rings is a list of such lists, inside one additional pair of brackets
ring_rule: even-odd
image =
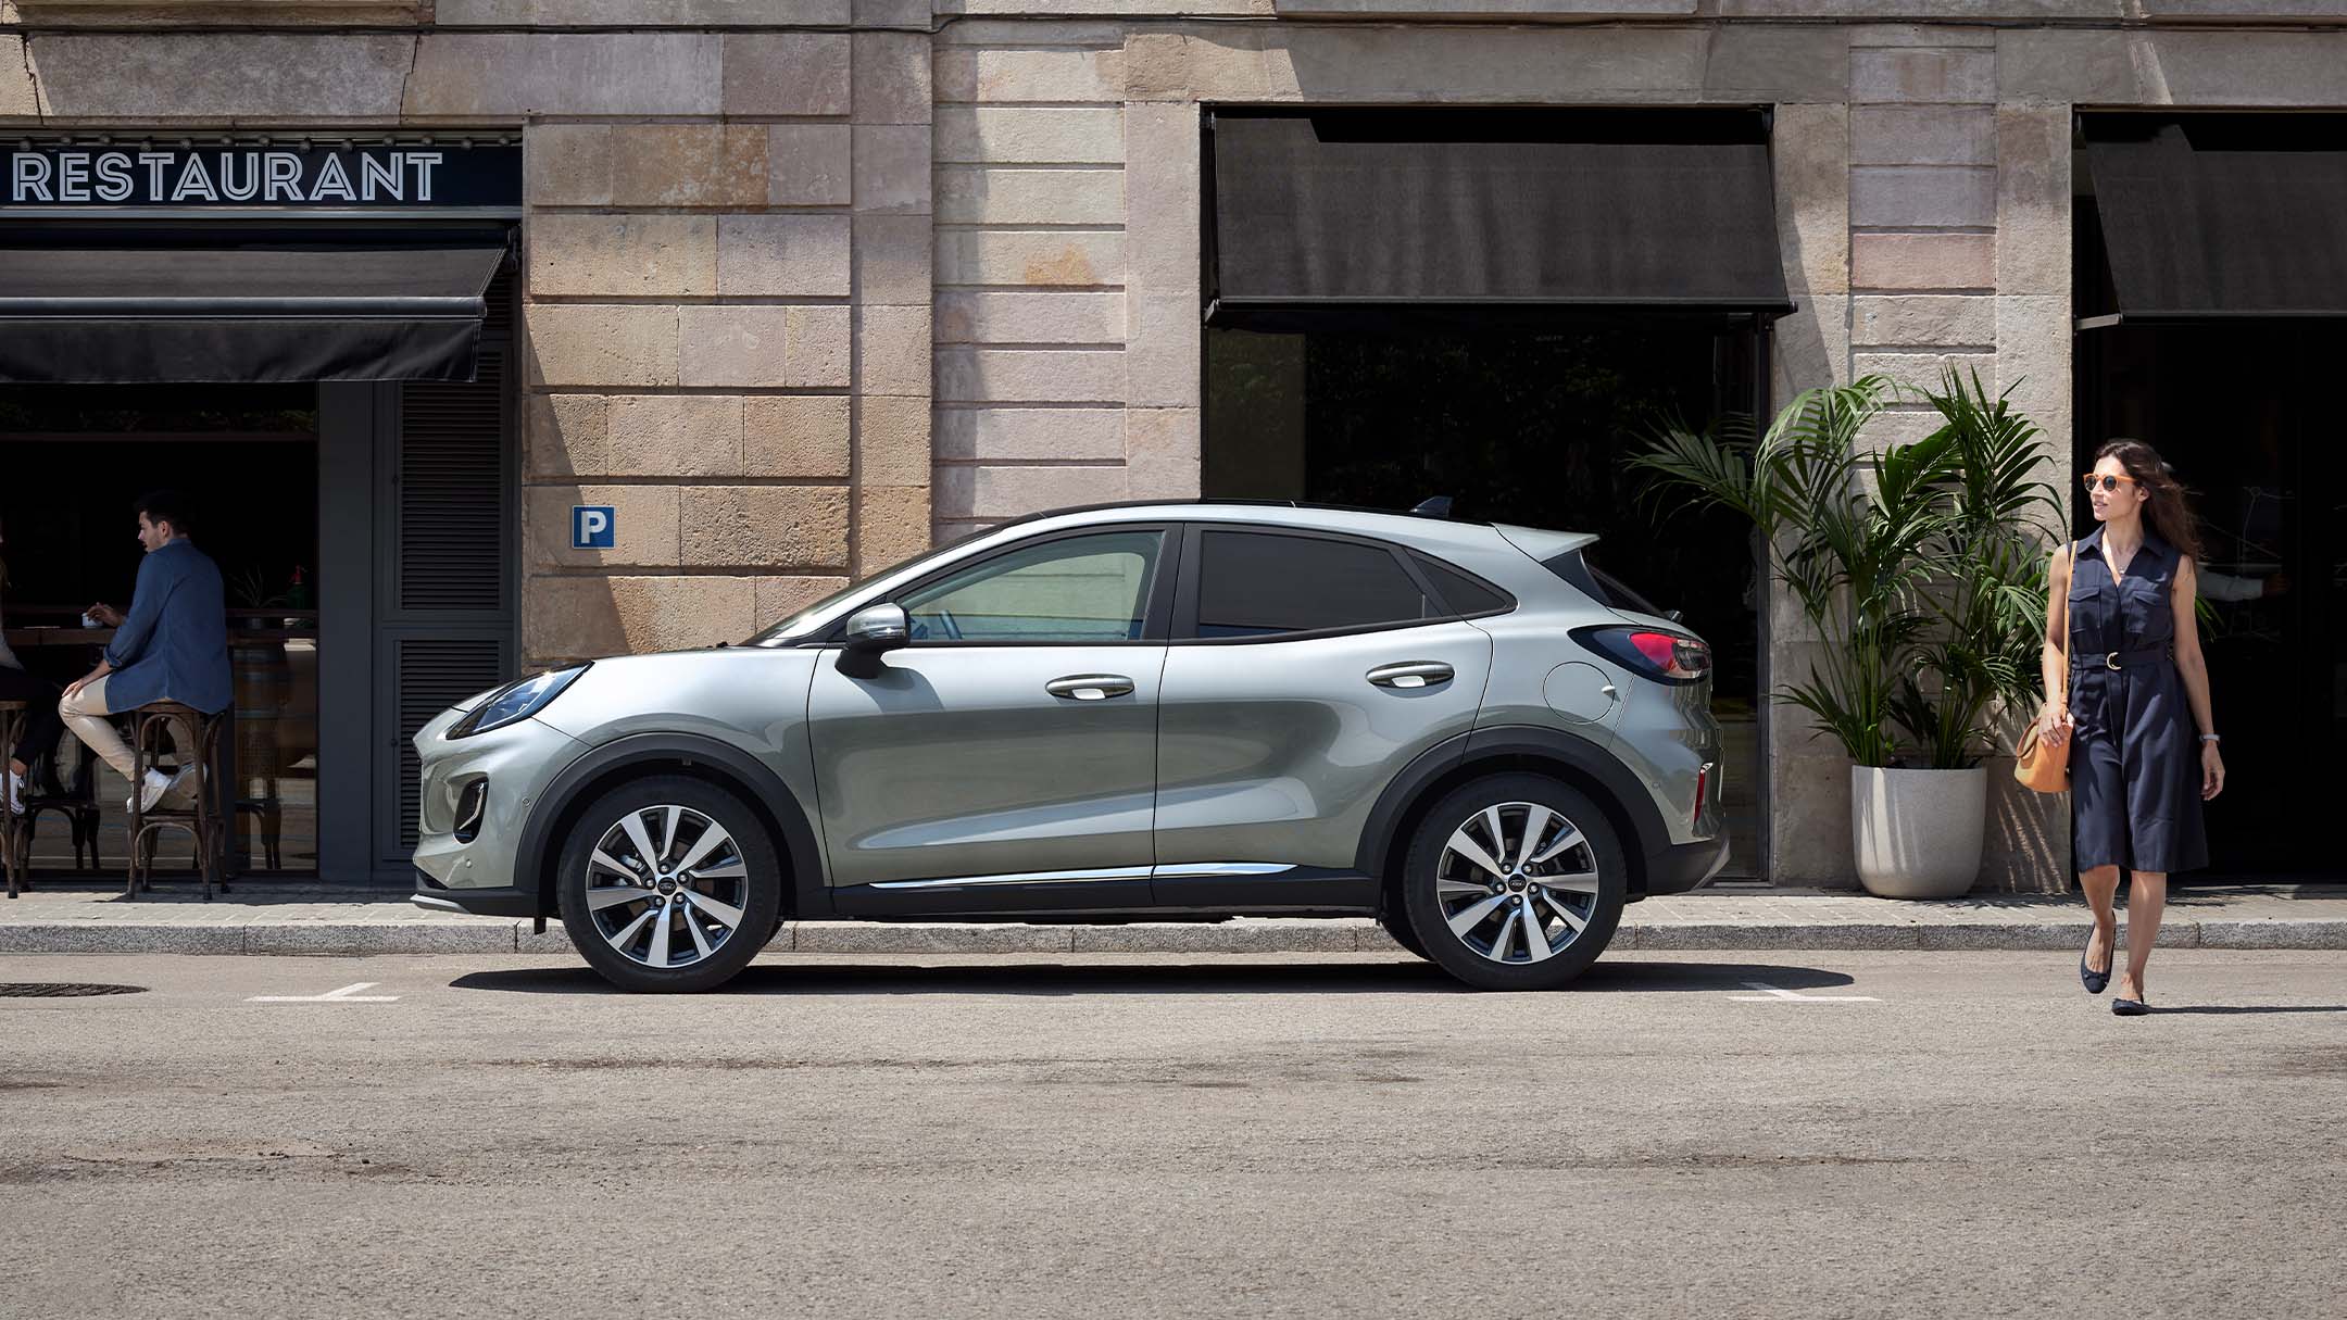
[(563, 839), (587, 808), (610, 789), (652, 775), (688, 775), (742, 799), (791, 871), (784, 883), (784, 918), (828, 916), (821, 848), (796, 794), (749, 752), (674, 733), (606, 742), (547, 784), (514, 855), (514, 881), (535, 885), (540, 916), (556, 914)]

